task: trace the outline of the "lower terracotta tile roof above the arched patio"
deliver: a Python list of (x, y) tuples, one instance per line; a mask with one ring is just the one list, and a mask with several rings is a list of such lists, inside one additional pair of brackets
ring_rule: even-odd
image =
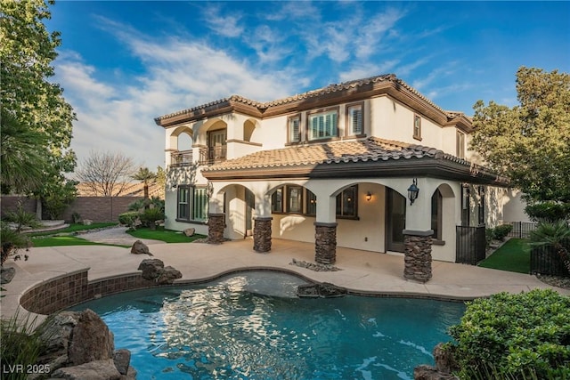
[(323, 144), (300, 145), (277, 150), (261, 150), (240, 158), (218, 163), (203, 172), (240, 170), (252, 168), (275, 168), (283, 166), (307, 166), (335, 164), (341, 162), (387, 161), (410, 158), (445, 158), (458, 162), (467, 161), (454, 158), (442, 150), (369, 137), (361, 141), (338, 141)]

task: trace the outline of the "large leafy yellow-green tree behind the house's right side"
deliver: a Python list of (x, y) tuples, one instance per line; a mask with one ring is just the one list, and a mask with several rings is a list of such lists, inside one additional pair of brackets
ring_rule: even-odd
[(477, 101), (470, 142), (527, 200), (570, 203), (570, 75), (521, 67), (519, 105)]

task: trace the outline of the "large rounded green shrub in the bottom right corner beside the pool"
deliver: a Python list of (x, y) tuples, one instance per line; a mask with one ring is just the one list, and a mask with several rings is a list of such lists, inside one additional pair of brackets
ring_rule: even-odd
[(446, 345), (460, 378), (570, 378), (570, 297), (550, 289), (476, 299)]

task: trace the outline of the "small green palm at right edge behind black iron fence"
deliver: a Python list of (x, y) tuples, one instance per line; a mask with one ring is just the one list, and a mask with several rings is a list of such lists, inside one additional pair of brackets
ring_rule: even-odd
[(530, 245), (533, 247), (554, 247), (566, 271), (570, 273), (570, 226), (566, 221), (539, 223), (536, 230), (531, 231), (531, 240)]

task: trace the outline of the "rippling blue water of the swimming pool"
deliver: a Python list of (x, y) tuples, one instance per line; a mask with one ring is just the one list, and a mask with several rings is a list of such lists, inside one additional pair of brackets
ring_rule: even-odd
[(302, 279), (244, 272), (83, 303), (140, 379), (412, 379), (449, 341), (462, 303), (348, 295), (297, 298)]

